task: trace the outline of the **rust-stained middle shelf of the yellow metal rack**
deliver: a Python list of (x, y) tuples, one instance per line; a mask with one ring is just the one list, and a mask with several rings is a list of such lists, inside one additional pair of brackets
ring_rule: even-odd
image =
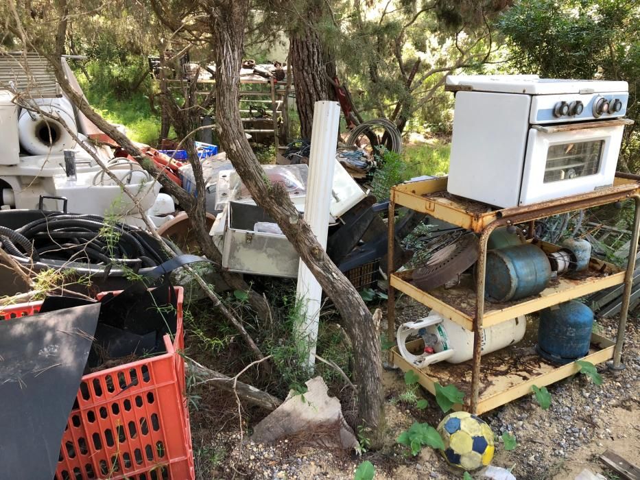
[[(456, 287), (438, 287), (426, 292), (410, 283), (411, 274), (412, 270), (392, 274), (391, 286), (473, 331), (476, 294), (475, 282), (471, 275), (461, 276), (460, 284)], [(488, 328), (519, 315), (533, 313), (621, 283), (624, 283), (624, 271), (610, 263), (591, 259), (588, 272), (580, 276), (554, 278), (549, 286), (536, 296), (512, 302), (485, 302), (483, 326)]]

